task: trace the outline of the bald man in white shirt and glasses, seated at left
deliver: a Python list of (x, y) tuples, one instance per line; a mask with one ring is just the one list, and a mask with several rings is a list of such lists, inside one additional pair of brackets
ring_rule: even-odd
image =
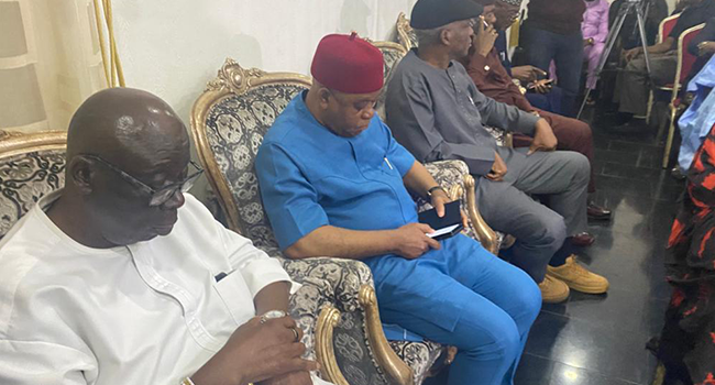
[(286, 317), (296, 285), (184, 194), (201, 174), (189, 163), (155, 96), (112, 88), (79, 107), (65, 188), (0, 244), (1, 384), (311, 383)]

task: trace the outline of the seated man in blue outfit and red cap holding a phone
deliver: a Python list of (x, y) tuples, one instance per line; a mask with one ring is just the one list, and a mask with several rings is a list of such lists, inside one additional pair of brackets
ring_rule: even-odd
[(292, 258), (365, 262), (384, 322), (459, 349), (450, 385), (512, 384), (540, 308), (536, 285), (465, 235), (426, 235), (410, 193), (441, 215), (449, 198), (375, 114), (377, 48), (354, 33), (328, 35), (311, 74), (256, 157), (280, 248)]

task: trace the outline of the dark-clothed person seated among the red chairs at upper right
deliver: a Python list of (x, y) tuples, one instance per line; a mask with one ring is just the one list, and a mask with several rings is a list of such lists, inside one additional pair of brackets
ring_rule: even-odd
[[(683, 31), (704, 23), (715, 16), (715, 0), (693, 0), (678, 18), (675, 28), (662, 43), (648, 47), (650, 61), (650, 79), (656, 86), (673, 81), (678, 67), (678, 37)], [(624, 53), (626, 68), (618, 74), (614, 101), (618, 102), (622, 125), (615, 132), (642, 132), (646, 129), (646, 112), (650, 86), (646, 72), (642, 47), (635, 47)], [(635, 118), (635, 119), (634, 119)]]

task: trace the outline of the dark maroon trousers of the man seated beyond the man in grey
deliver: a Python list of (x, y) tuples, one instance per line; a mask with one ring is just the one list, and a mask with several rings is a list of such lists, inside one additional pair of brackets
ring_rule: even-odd
[[(539, 116), (543, 118), (559, 141), (558, 150), (574, 151), (585, 155), (588, 163), (593, 165), (593, 133), (587, 123), (573, 118), (562, 117), (549, 111), (537, 109)], [(526, 147), (531, 145), (534, 139), (524, 134), (514, 134), (514, 146)], [(588, 179), (588, 193), (596, 191), (596, 183), (591, 167), (591, 178)]]

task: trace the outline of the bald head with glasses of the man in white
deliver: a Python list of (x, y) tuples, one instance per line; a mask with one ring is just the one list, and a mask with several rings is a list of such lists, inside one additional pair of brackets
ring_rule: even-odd
[[(99, 91), (69, 124), (64, 209), (53, 220), (73, 223), (69, 232), (91, 245), (166, 235), (184, 205), (189, 157), (186, 127), (162, 99), (129, 88)], [(165, 191), (166, 200), (155, 199)]]

